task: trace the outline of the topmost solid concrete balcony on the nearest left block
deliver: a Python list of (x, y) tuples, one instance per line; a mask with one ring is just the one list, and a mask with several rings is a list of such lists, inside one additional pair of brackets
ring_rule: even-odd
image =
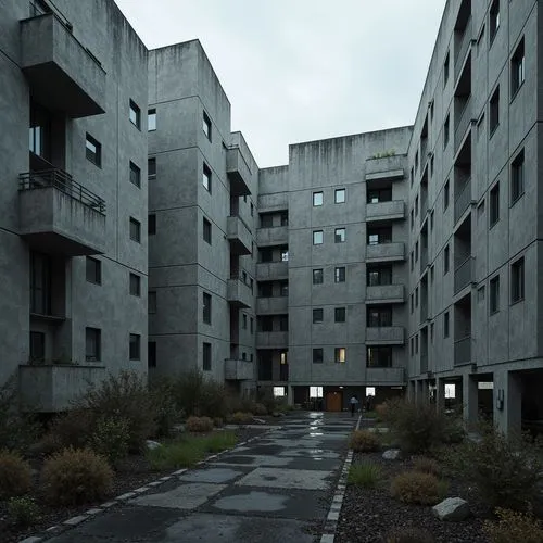
[(33, 98), (70, 117), (105, 112), (105, 72), (54, 13), (20, 22), (21, 68)]

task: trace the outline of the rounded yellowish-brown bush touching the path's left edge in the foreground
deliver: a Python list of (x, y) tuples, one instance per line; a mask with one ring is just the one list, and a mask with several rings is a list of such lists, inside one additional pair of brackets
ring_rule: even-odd
[(113, 471), (102, 456), (89, 449), (66, 449), (43, 464), (41, 483), (55, 505), (78, 505), (103, 498)]

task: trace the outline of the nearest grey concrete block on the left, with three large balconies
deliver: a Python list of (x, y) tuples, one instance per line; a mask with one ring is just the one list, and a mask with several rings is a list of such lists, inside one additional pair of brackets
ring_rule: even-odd
[(0, 384), (147, 374), (148, 52), (113, 1), (0, 8)]

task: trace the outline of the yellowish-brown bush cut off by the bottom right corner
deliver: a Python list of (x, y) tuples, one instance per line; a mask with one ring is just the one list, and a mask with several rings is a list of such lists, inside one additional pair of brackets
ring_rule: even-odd
[(497, 521), (485, 520), (484, 533), (490, 543), (543, 543), (543, 526), (532, 514), (496, 508)]

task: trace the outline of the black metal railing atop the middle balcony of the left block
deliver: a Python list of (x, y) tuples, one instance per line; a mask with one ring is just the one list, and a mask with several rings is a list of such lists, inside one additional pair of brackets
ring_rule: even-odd
[(79, 185), (63, 169), (42, 169), (18, 175), (18, 190), (36, 190), (49, 187), (53, 187), (70, 198), (105, 215), (105, 201)]

